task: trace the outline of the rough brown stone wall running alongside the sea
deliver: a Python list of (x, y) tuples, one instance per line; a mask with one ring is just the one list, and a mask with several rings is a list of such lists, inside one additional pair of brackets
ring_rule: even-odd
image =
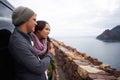
[(63, 42), (55, 39), (52, 42), (56, 50), (56, 60), (67, 80), (120, 80), (119, 70)]

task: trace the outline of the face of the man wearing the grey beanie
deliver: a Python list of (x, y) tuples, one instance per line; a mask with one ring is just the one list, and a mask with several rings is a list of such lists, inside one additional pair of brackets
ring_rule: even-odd
[(34, 14), (34, 15), (26, 22), (26, 27), (27, 27), (28, 33), (29, 33), (29, 32), (34, 32), (36, 25), (37, 25), (37, 22), (36, 22), (36, 14)]

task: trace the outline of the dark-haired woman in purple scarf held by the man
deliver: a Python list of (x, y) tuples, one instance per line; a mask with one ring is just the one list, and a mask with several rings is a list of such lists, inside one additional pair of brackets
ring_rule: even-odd
[[(37, 26), (35, 27), (34, 33), (31, 33), (31, 37), (34, 41), (34, 49), (40, 58), (43, 58), (50, 48), (54, 48), (48, 37), (49, 33), (49, 24), (46, 21), (37, 21)], [(54, 57), (49, 69), (47, 70), (47, 74), (48, 80), (59, 80), (57, 64)]]

